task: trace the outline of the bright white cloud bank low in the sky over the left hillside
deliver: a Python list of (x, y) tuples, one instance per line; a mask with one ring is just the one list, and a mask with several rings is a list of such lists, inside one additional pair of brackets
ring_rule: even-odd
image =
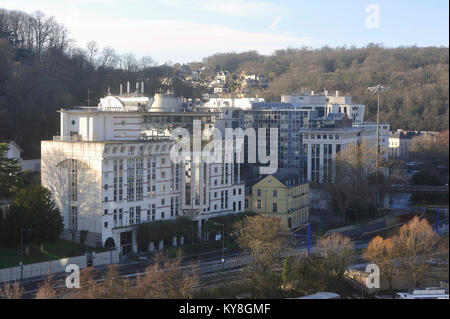
[(32, 7), (18, 6), (15, 1), (0, 1), (0, 5), (4, 3), (9, 3), (3, 6), (8, 9), (27, 12), (39, 9), (55, 16), (66, 25), (77, 46), (85, 48), (87, 42), (96, 41), (100, 47), (111, 46), (119, 53), (131, 52), (137, 56), (150, 55), (160, 63), (189, 62), (217, 52), (257, 50), (270, 54), (289, 46), (321, 44), (314, 38), (290, 33), (248, 31), (194, 21), (112, 18), (59, 3), (40, 3), (39, 7)]

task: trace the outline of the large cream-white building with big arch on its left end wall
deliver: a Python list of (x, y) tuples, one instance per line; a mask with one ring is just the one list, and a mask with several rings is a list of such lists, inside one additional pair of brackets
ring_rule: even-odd
[[(129, 90), (127, 90), (129, 91)], [(174, 163), (176, 127), (213, 125), (214, 112), (187, 111), (171, 94), (109, 95), (98, 107), (61, 109), (61, 135), (41, 142), (42, 185), (64, 217), (64, 237), (137, 251), (143, 222), (208, 218), (244, 211), (244, 185), (233, 163)]]

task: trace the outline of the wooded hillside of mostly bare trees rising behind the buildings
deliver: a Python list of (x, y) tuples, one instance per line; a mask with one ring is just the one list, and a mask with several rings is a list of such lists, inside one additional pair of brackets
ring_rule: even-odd
[[(93, 39), (95, 40), (95, 39)], [(376, 96), (368, 86), (390, 86), (383, 95), (381, 120), (392, 129), (444, 130), (449, 125), (448, 48), (400, 47), (287, 49), (263, 56), (255, 51), (215, 54), (190, 66), (208, 65), (236, 75), (261, 73), (270, 85), (264, 97), (309, 88), (328, 89), (368, 105), (374, 120)], [(40, 12), (32, 15), (0, 9), (0, 140), (15, 140), (25, 158), (40, 156), (40, 141), (58, 134), (61, 107), (96, 105), (111, 87), (144, 81), (149, 95), (173, 79), (178, 96), (200, 97), (202, 90), (177, 77), (180, 64), (156, 65), (150, 57), (116, 54), (113, 48), (74, 47), (65, 27)], [(89, 102), (88, 100), (89, 90)]]

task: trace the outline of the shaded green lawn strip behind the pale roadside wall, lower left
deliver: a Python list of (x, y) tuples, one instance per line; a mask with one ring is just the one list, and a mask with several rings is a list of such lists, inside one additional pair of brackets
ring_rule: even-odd
[[(40, 246), (32, 244), (30, 254), (24, 256), (23, 263), (33, 264), (49, 260), (81, 256), (86, 252), (99, 251), (98, 249), (87, 247), (86, 245), (75, 243), (67, 240), (58, 239), (53, 243), (45, 243), (44, 250), (40, 250)], [(19, 265), (20, 249), (0, 248), (0, 268), (8, 268)]]

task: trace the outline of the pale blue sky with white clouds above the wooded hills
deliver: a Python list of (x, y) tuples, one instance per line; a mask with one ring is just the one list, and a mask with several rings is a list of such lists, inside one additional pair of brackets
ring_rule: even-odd
[(187, 63), (219, 52), (449, 45), (448, 0), (0, 0), (54, 16), (76, 46)]

